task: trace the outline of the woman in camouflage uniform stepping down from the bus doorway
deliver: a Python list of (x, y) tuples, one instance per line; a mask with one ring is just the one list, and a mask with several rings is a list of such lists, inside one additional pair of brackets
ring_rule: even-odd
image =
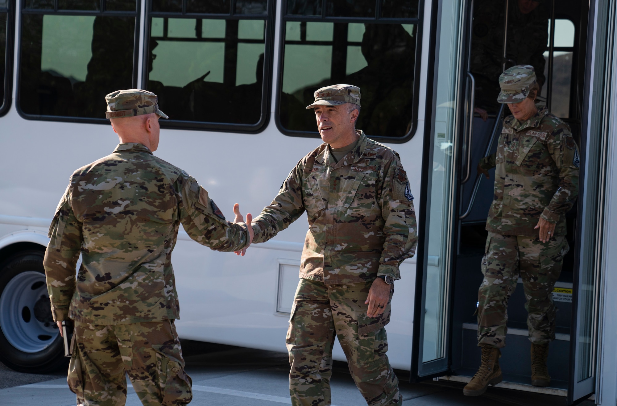
[(478, 172), (495, 168), (495, 197), (486, 222), (489, 236), (478, 291), (478, 346), (482, 365), (465, 394), (484, 393), (501, 381), (499, 349), (505, 346), (508, 299), (520, 276), (529, 312), (534, 386), (548, 386), (546, 359), (555, 339), (557, 309), (552, 291), (568, 252), (565, 213), (578, 194), (579, 158), (568, 125), (536, 107), (538, 86), (531, 65), (517, 65), (499, 78), (498, 101), (513, 115), (503, 120), (497, 152)]

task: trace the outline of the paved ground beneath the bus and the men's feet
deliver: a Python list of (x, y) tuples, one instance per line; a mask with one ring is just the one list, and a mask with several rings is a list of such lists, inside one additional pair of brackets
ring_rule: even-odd
[[(266, 406), (291, 404), (288, 389), (288, 360), (278, 352), (184, 341), (189, 375), (193, 378), (191, 406)], [(565, 398), (489, 387), (480, 397), (465, 397), (463, 384), (428, 381), (409, 384), (407, 372), (399, 371), (405, 406), (545, 406), (565, 405)], [(347, 371), (336, 362), (332, 378), (333, 406), (362, 406), (364, 399)], [(22, 374), (0, 364), (2, 406), (73, 406), (64, 371), (50, 375)], [(140, 406), (129, 389), (127, 406)], [(583, 405), (591, 406), (589, 400)]]

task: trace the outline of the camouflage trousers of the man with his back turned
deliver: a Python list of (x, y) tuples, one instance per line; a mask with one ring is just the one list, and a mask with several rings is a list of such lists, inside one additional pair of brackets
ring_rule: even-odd
[(170, 320), (123, 325), (75, 322), (68, 386), (79, 406), (122, 406), (126, 374), (144, 406), (186, 405), (193, 399), (178, 334)]

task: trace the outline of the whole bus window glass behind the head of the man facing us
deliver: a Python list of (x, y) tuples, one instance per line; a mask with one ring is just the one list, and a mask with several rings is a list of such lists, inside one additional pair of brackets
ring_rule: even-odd
[[(322, 86), (360, 87), (357, 128), (393, 141), (412, 133), (416, 115), (418, 1), (287, 0), (281, 37), (278, 125), (287, 135), (316, 136), (305, 107)], [(381, 14), (378, 15), (378, 11)], [(341, 17), (347, 17), (341, 22)]]

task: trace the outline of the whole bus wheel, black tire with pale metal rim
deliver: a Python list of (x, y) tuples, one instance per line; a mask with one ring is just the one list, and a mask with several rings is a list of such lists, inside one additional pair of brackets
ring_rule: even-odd
[(20, 372), (67, 365), (49, 304), (43, 250), (28, 249), (0, 265), (0, 361)]

